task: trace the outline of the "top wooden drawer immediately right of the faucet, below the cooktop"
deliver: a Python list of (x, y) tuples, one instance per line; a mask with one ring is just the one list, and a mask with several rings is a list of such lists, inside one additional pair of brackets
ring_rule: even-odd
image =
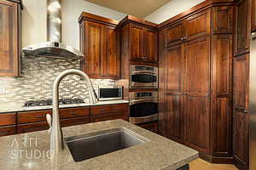
[(78, 116), (89, 116), (90, 108), (69, 108), (69, 109), (61, 109), (60, 116), (63, 118), (71, 118)]

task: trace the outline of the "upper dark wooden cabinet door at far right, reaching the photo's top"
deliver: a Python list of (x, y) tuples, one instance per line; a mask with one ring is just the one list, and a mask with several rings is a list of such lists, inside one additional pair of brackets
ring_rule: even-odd
[(240, 0), (235, 8), (235, 44), (234, 54), (249, 52), (250, 43), (250, 0)]

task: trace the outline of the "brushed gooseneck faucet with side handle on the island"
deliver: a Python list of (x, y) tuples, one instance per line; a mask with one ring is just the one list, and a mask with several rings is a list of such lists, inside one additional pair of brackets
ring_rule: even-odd
[(50, 150), (53, 151), (54, 154), (59, 153), (64, 148), (64, 139), (59, 114), (59, 85), (61, 80), (68, 75), (78, 75), (82, 77), (87, 82), (90, 104), (95, 104), (97, 102), (96, 92), (90, 82), (90, 78), (83, 71), (70, 69), (61, 72), (61, 74), (56, 77), (53, 84), (53, 120), (51, 121), (51, 116), (49, 114), (46, 116), (50, 127)]

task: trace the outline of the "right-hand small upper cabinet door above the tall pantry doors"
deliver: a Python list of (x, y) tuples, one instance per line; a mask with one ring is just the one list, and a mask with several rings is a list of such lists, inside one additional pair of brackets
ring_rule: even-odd
[(193, 14), (185, 20), (185, 38), (187, 40), (207, 36), (211, 33), (211, 9)]

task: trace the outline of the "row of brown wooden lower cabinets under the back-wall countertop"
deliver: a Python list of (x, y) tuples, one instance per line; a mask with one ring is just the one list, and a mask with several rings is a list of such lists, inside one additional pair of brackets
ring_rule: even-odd
[[(49, 125), (46, 122), (47, 114), (52, 114), (52, 111), (46, 110), (19, 112), (17, 114), (17, 127), (16, 125), (14, 127), (2, 127), (1, 125), (6, 124), (0, 123), (0, 136), (6, 136), (15, 133), (32, 133), (49, 129)], [(11, 118), (13, 115), (9, 114), (7, 116)], [(98, 105), (91, 107), (61, 109), (60, 116), (61, 127), (69, 127), (90, 122), (102, 122), (114, 119), (124, 119), (127, 121), (128, 104)]]

